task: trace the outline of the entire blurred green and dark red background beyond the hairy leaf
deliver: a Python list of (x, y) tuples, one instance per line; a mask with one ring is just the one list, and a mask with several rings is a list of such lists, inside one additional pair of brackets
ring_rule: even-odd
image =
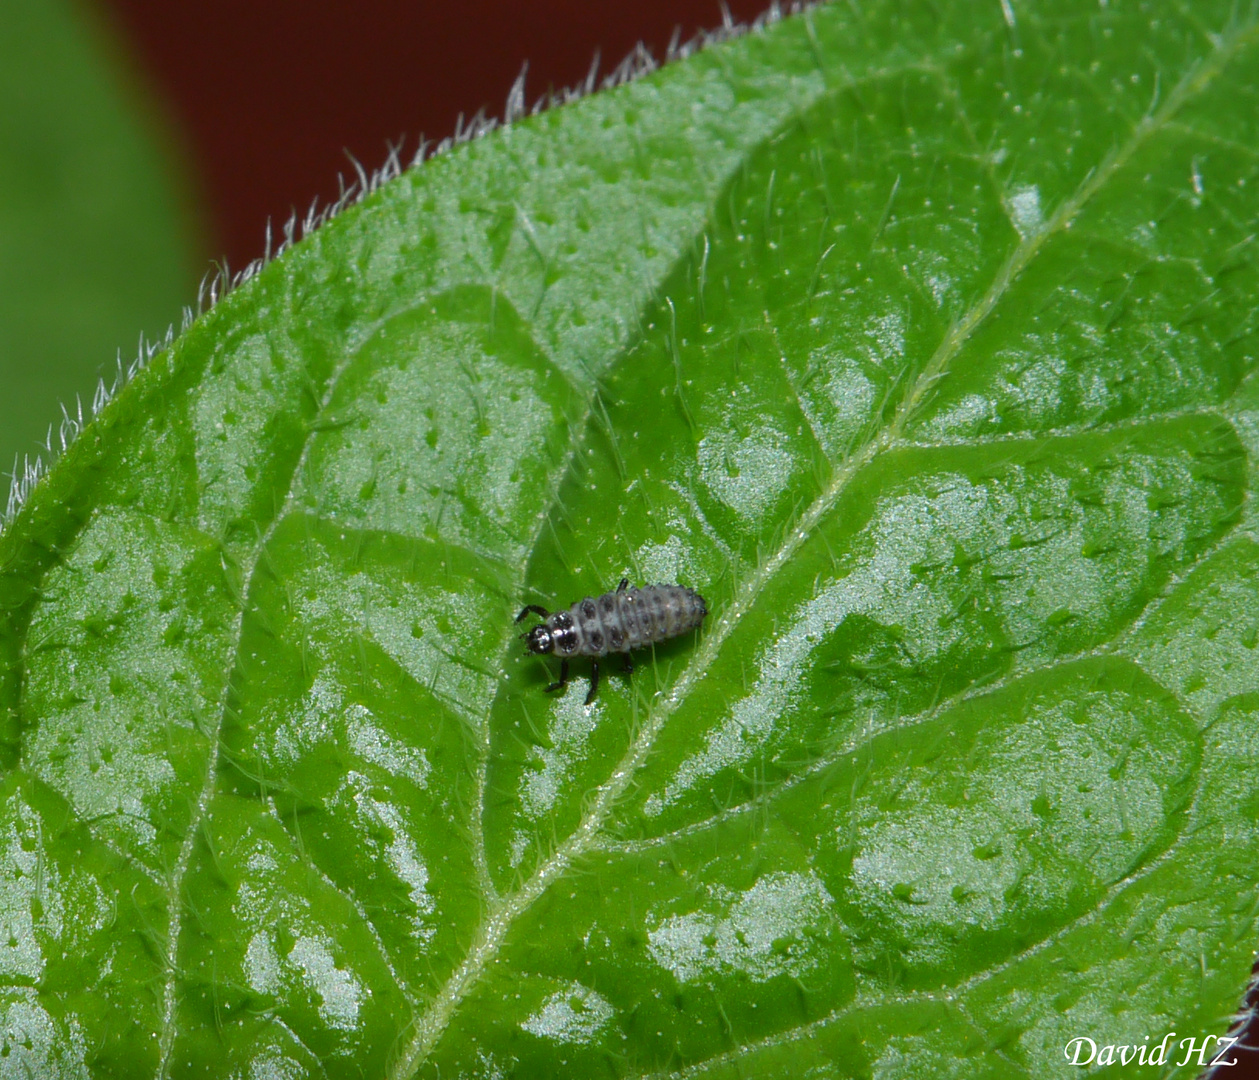
[[(768, 0), (729, 0), (752, 19)], [(404, 160), (458, 115), (501, 116), (721, 25), (718, 0), (0, 0), (0, 471), (62, 407), (243, 268), (346, 154)]]

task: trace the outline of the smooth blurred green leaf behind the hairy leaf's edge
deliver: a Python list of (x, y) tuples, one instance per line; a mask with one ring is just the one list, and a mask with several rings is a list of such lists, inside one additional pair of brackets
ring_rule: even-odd
[[(183, 177), (87, 5), (0, 6), (0, 467), (195, 295)], [(181, 201), (183, 200), (183, 201)]]

